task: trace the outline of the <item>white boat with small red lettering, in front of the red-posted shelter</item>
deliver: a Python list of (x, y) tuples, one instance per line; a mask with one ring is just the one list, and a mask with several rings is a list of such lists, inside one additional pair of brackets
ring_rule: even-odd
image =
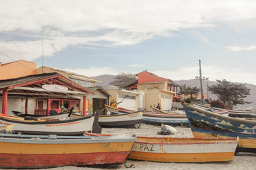
[[(72, 112), (72, 109), (71, 109)], [(71, 115), (71, 112), (69, 115)], [(35, 119), (19, 118), (0, 114), (0, 125), (12, 125), (13, 132), (38, 135), (83, 135), (84, 130), (92, 132), (94, 117), (87, 116), (77, 119)]]

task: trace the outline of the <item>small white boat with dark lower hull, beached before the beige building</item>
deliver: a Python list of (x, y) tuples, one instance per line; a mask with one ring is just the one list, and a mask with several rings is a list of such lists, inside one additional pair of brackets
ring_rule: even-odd
[[(71, 118), (81, 117), (80, 114), (72, 113)], [(104, 128), (139, 128), (140, 121), (143, 118), (143, 111), (131, 113), (99, 115), (99, 126)]]

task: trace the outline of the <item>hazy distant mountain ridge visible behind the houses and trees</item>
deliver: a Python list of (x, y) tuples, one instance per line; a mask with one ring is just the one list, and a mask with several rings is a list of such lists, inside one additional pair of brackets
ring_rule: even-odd
[[(100, 75), (97, 77), (94, 77), (95, 79), (100, 79), (102, 80), (102, 83), (96, 83), (96, 86), (101, 86), (101, 87), (106, 87), (108, 86), (108, 84), (113, 81), (113, 78), (115, 77), (115, 75), (110, 75), (110, 74), (104, 74), (104, 75)], [(200, 81), (196, 80), (196, 79), (189, 79), (189, 80), (176, 80), (174, 81), (174, 83), (182, 85), (182, 84), (186, 84), (187, 86), (197, 86), (198, 88), (200, 88)], [(208, 81), (208, 86), (213, 86), (215, 84), (217, 84), (217, 81)], [(245, 84), (245, 86), (247, 88), (250, 89), (250, 96), (247, 96), (247, 98), (245, 98), (245, 101), (250, 101), (252, 102), (251, 104), (245, 104), (243, 106), (237, 106), (237, 108), (241, 108), (241, 109), (256, 109), (256, 86), (253, 84)], [(203, 81), (203, 92), (204, 94), (207, 93), (207, 81)], [(212, 98), (213, 100), (216, 99), (215, 94), (211, 94), (211, 91), (209, 91), (209, 98)]]

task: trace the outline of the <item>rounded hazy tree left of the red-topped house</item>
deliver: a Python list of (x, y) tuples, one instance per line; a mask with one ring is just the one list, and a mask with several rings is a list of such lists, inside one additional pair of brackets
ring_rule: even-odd
[(109, 84), (113, 86), (119, 86), (123, 88), (126, 84), (137, 80), (137, 76), (131, 73), (124, 73), (118, 74), (116, 77), (113, 78), (114, 81), (111, 81)]

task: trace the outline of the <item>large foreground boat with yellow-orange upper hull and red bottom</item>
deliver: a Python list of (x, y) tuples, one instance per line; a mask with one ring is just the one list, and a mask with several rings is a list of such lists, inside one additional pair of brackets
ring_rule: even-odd
[(135, 137), (0, 134), (0, 168), (123, 164)]

